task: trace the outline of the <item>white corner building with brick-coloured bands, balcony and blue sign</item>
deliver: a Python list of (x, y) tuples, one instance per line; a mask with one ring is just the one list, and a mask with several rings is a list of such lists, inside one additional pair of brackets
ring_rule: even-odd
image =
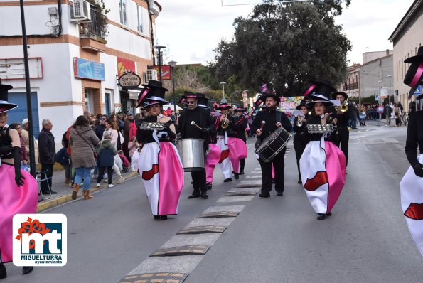
[[(45, 118), (53, 122), (60, 143), (63, 132), (84, 110), (92, 114), (135, 110), (137, 93), (119, 89), (117, 75), (132, 70), (146, 82), (147, 65), (154, 60), (154, 21), (161, 6), (152, 0), (98, 2), (109, 9), (107, 20), (83, 0), (23, 1), (36, 136)], [(79, 6), (80, 14), (74, 18), (73, 10)], [(102, 20), (107, 21), (107, 32)], [(27, 117), (21, 35), (19, 1), (1, 0), (0, 78), (14, 86), (9, 101), (19, 105), (9, 113), (10, 123)]]

